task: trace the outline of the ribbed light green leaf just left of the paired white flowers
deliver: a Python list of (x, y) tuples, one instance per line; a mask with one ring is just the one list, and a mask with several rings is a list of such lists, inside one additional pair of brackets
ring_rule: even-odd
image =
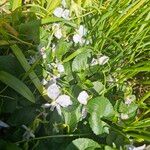
[(77, 55), (72, 62), (72, 71), (80, 72), (81, 70), (85, 70), (88, 65), (88, 58), (91, 57), (91, 51), (85, 51), (81, 54)]

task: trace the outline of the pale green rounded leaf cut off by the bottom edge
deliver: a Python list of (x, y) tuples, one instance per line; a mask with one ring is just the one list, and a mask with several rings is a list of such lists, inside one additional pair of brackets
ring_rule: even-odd
[(101, 148), (101, 146), (88, 138), (78, 138), (74, 141), (72, 141), (66, 148), (66, 150), (86, 150), (87, 148), (96, 149)]

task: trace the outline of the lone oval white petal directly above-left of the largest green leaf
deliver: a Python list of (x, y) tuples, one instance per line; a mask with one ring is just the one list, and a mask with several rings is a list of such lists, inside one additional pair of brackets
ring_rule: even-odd
[(78, 101), (83, 104), (83, 105), (86, 105), (87, 104), (87, 101), (88, 101), (88, 98), (89, 98), (89, 95), (86, 91), (82, 91), (79, 93), (79, 96), (78, 96)]

